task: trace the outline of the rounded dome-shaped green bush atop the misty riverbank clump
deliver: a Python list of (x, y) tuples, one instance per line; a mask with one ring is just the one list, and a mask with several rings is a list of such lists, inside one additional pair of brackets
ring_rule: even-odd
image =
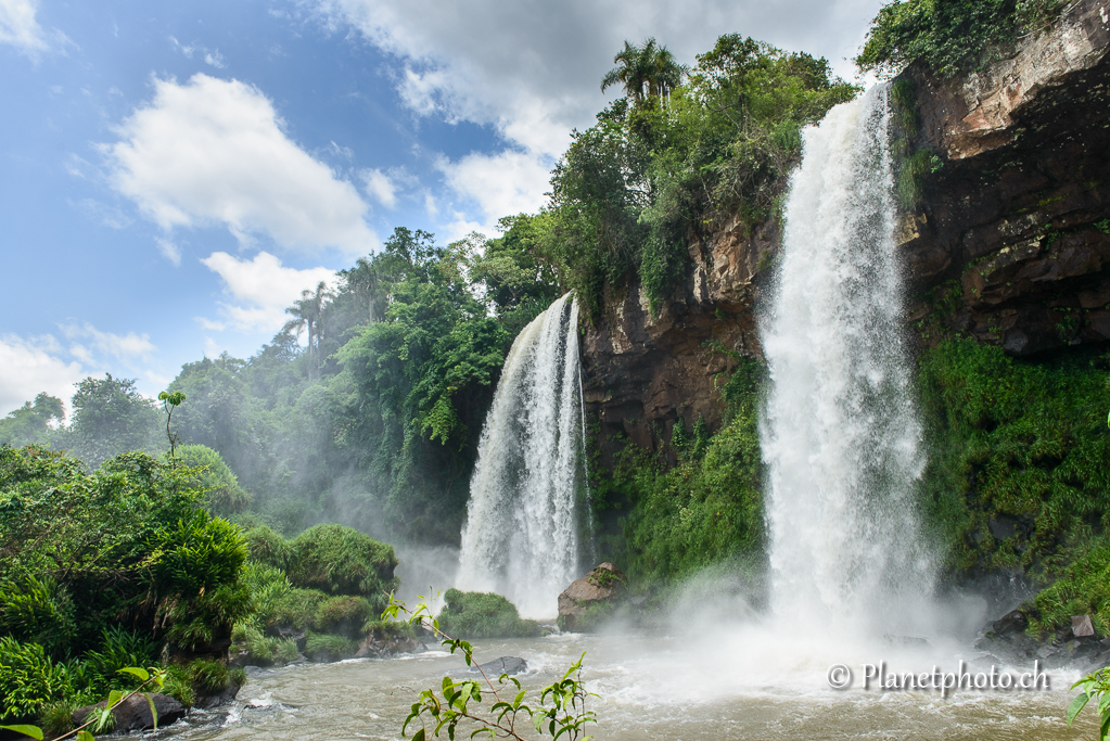
[(289, 544), (290, 581), (301, 588), (329, 595), (371, 599), (384, 609), (398, 580), (393, 575), (397, 558), (393, 546), (342, 525), (317, 525)]

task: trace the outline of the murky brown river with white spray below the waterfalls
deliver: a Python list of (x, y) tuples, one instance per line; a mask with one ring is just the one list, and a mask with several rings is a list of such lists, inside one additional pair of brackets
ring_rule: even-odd
[[(585, 651), (584, 678), (601, 696), (593, 706), (599, 720), (594, 733), (606, 741), (1037, 741), (1090, 739), (1098, 732), (1090, 709), (1071, 729), (1063, 720), (1076, 672), (1050, 671), (1049, 691), (963, 689), (941, 698), (937, 691), (865, 691), (857, 666), (856, 687), (835, 691), (827, 683), (828, 662), (851, 651), (829, 647), (811, 653), (764, 637), (759, 644), (758, 633), (744, 631), (724, 638), (563, 635), (474, 646), (482, 660), (525, 658), (529, 669), (522, 679), (528, 688), (552, 682)], [(872, 656), (891, 664), (922, 659), (889, 650)], [(852, 666), (850, 657), (844, 662)], [(955, 670), (956, 661), (950, 664), (941, 661), (941, 670)], [(230, 714), (199, 713), (168, 734), (176, 741), (401, 739), (417, 693), (438, 687), (445, 673), (463, 677), (465, 664), (457, 654), (428, 651), (250, 673)]]

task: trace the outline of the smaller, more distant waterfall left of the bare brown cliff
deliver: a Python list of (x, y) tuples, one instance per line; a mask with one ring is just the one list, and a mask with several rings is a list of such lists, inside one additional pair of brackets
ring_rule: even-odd
[(553, 617), (578, 571), (578, 306), (567, 294), (513, 343), (478, 443), (458, 588)]

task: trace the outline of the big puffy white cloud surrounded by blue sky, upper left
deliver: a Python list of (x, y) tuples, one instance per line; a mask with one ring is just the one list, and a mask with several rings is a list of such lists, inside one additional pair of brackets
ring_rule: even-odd
[(354, 185), (283, 126), (270, 100), (238, 80), (154, 80), (153, 101), (104, 148), (110, 179), (167, 231), (222, 223), (244, 244), (265, 234), (289, 250), (370, 251), (377, 240)]

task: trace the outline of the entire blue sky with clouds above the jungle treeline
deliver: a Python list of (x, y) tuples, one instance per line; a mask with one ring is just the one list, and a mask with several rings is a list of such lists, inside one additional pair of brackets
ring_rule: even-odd
[(396, 226), (535, 212), (625, 40), (846, 79), (881, 0), (0, 0), (0, 415), (249, 357)]

